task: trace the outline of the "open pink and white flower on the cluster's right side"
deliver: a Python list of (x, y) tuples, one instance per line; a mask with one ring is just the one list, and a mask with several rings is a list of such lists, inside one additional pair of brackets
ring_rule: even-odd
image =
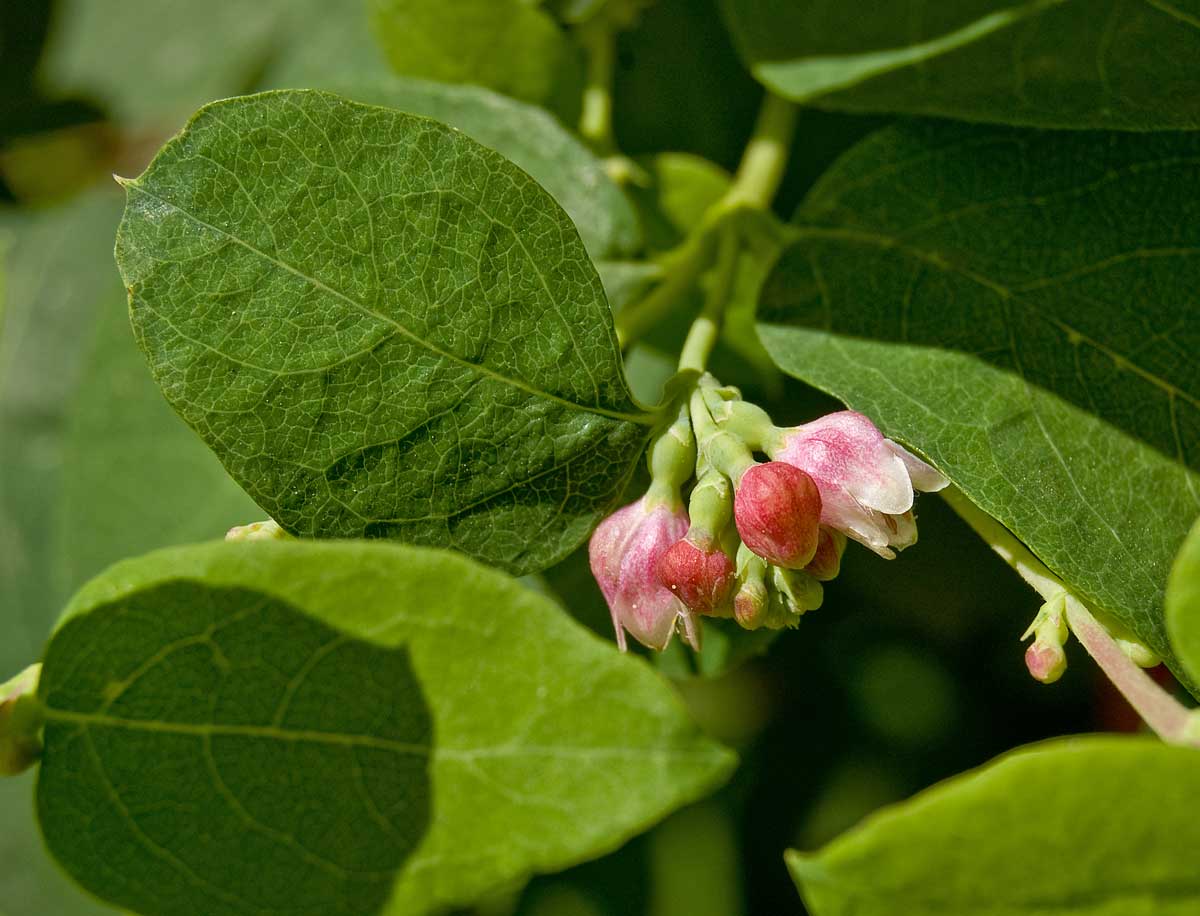
[(913, 490), (935, 492), (949, 483), (854, 411), (785, 430), (770, 456), (812, 478), (823, 525), (888, 559), (895, 556), (893, 547), (917, 541)]

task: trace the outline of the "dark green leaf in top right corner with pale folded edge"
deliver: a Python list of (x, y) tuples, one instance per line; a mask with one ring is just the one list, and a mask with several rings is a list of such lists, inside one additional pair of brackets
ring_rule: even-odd
[(769, 89), (846, 112), (1038, 127), (1200, 127), (1198, 0), (724, 0)]

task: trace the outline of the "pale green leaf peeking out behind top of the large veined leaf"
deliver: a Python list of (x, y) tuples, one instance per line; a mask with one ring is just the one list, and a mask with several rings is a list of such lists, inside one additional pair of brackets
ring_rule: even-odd
[(278, 88), (289, 86), (325, 89), (457, 127), (546, 188), (571, 217), (593, 261), (625, 257), (641, 247), (637, 215), (604, 162), (541, 108), (478, 86), (389, 74), (346, 79), (311, 72), (306, 82), (295, 79)]

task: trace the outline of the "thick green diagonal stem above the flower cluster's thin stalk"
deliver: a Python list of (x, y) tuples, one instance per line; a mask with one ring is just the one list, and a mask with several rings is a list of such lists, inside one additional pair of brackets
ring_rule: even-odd
[(665, 258), (662, 282), (617, 316), (617, 340), (622, 347), (661, 322), (696, 285), (709, 267), (724, 217), (743, 206), (762, 210), (770, 206), (787, 167), (794, 126), (796, 107), (768, 92), (730, 190), (708, 209), (692, 234)]

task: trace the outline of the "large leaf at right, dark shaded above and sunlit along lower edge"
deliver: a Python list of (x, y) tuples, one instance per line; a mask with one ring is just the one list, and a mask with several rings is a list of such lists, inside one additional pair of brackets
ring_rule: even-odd
[(1200, 507), (1198, 164), (1190, 133), (886, 130), (814, 188), (760, 303), (786, 372), (923, 450), (1168, 660)]

